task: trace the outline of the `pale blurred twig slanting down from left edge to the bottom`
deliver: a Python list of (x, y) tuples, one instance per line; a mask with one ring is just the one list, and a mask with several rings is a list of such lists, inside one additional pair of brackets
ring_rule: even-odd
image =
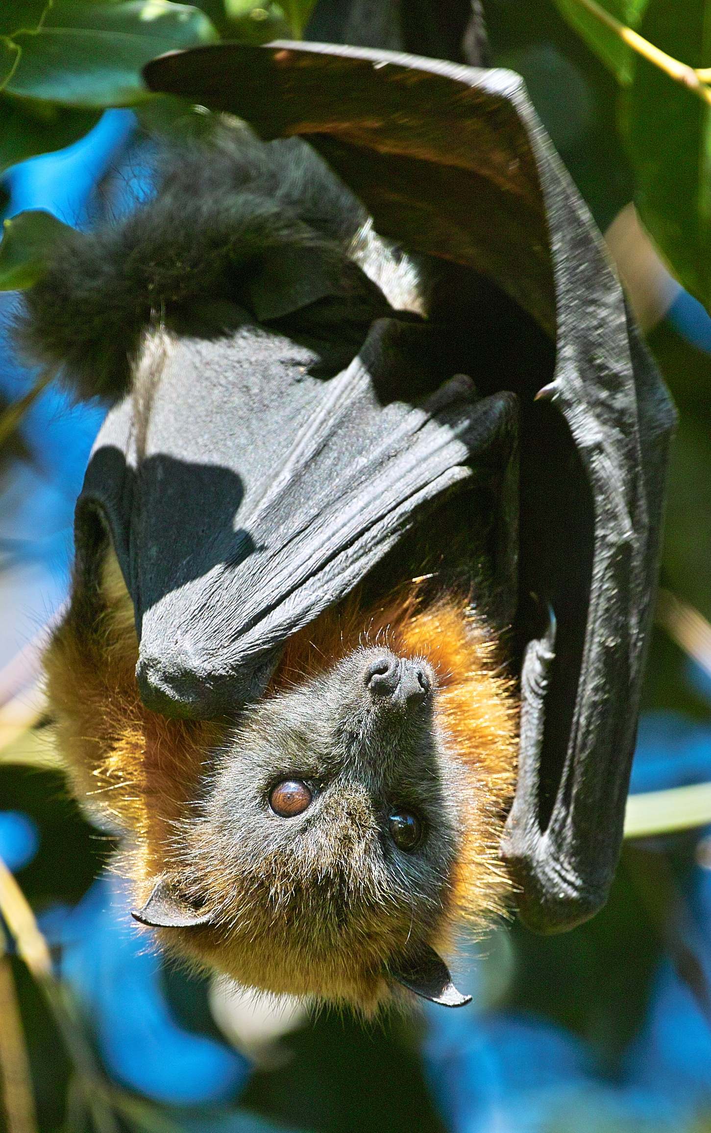
[(119, 1133), (108, 1100), (108, 1087), (84, 1034), (76, 1007), (52, 973), (52, 961), (34, 913), (19, 885), (0, 859), (0, 913), (15, 940), (18, 955), (27, 964), (61, 1032), (74, 1065), (77, 1084), (86, 1100), (98, 1133)]

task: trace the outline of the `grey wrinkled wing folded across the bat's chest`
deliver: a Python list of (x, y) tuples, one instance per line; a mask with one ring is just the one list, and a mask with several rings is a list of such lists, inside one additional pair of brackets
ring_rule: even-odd
[(515, 446), (510, 393), (440, 370), (416, 404), (387, 395), (414, 330), (398, 320), (328, 382), (302, 373), (308, 351), (253, 330), (181, 340), (143, 427), (135, 395), (110, 410), (78, 502), (78, 560), (99, 513), (134, 599), (142, 699), (166, 715), (229, 716), (261, 696), (289, 634)]

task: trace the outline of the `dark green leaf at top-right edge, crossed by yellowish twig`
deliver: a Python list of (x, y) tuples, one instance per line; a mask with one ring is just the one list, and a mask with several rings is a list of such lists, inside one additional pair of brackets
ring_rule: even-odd
[[(651, 0), (641, 34), (692, 67), (711, 63), (711, 0)], [(637, 59), (627, 128), (642, 223), (672, 273), (711, 306), (711, 114), (691, 91)]]

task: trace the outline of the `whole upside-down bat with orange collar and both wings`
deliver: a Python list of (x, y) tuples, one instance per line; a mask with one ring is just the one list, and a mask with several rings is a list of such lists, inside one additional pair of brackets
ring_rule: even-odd
[[(149, 82), (259, 119), (211, 50)], [(248, 59), (285, 88), (260, 131), (331, 168), (238, 131), (27, 297), (25, 348), (116, 399), (46, 658), (58, 738), (167, 947), (364, 1011), (395, 985), (456, 1006), (462, 915), (517, 889), (555, 929), (604, 900), (671, 415), (520, 93), (387, 53)]]

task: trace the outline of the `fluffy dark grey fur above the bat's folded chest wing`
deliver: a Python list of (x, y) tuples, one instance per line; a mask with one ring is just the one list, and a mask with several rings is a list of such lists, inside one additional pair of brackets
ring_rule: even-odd
[[(382, 286), (376, 278), (392, 275), (384, 245), (372, 253), (363, 206), (306, 143), (263, 143), (223, 121), (209, 140), (169, 146), (156, 165), (146, 204), (116, 224), (69, 232), (25, 295), (18, 349), (79, 398), (121, 395), (146, 330), (204, 299), (232, 300), (259, 322), (327, 293), (378, 293), (387, 308), (366, 279)], [(274, 278), (286, 303), (259, 309), (251, 288), (257, 281), (269, 307)]]

